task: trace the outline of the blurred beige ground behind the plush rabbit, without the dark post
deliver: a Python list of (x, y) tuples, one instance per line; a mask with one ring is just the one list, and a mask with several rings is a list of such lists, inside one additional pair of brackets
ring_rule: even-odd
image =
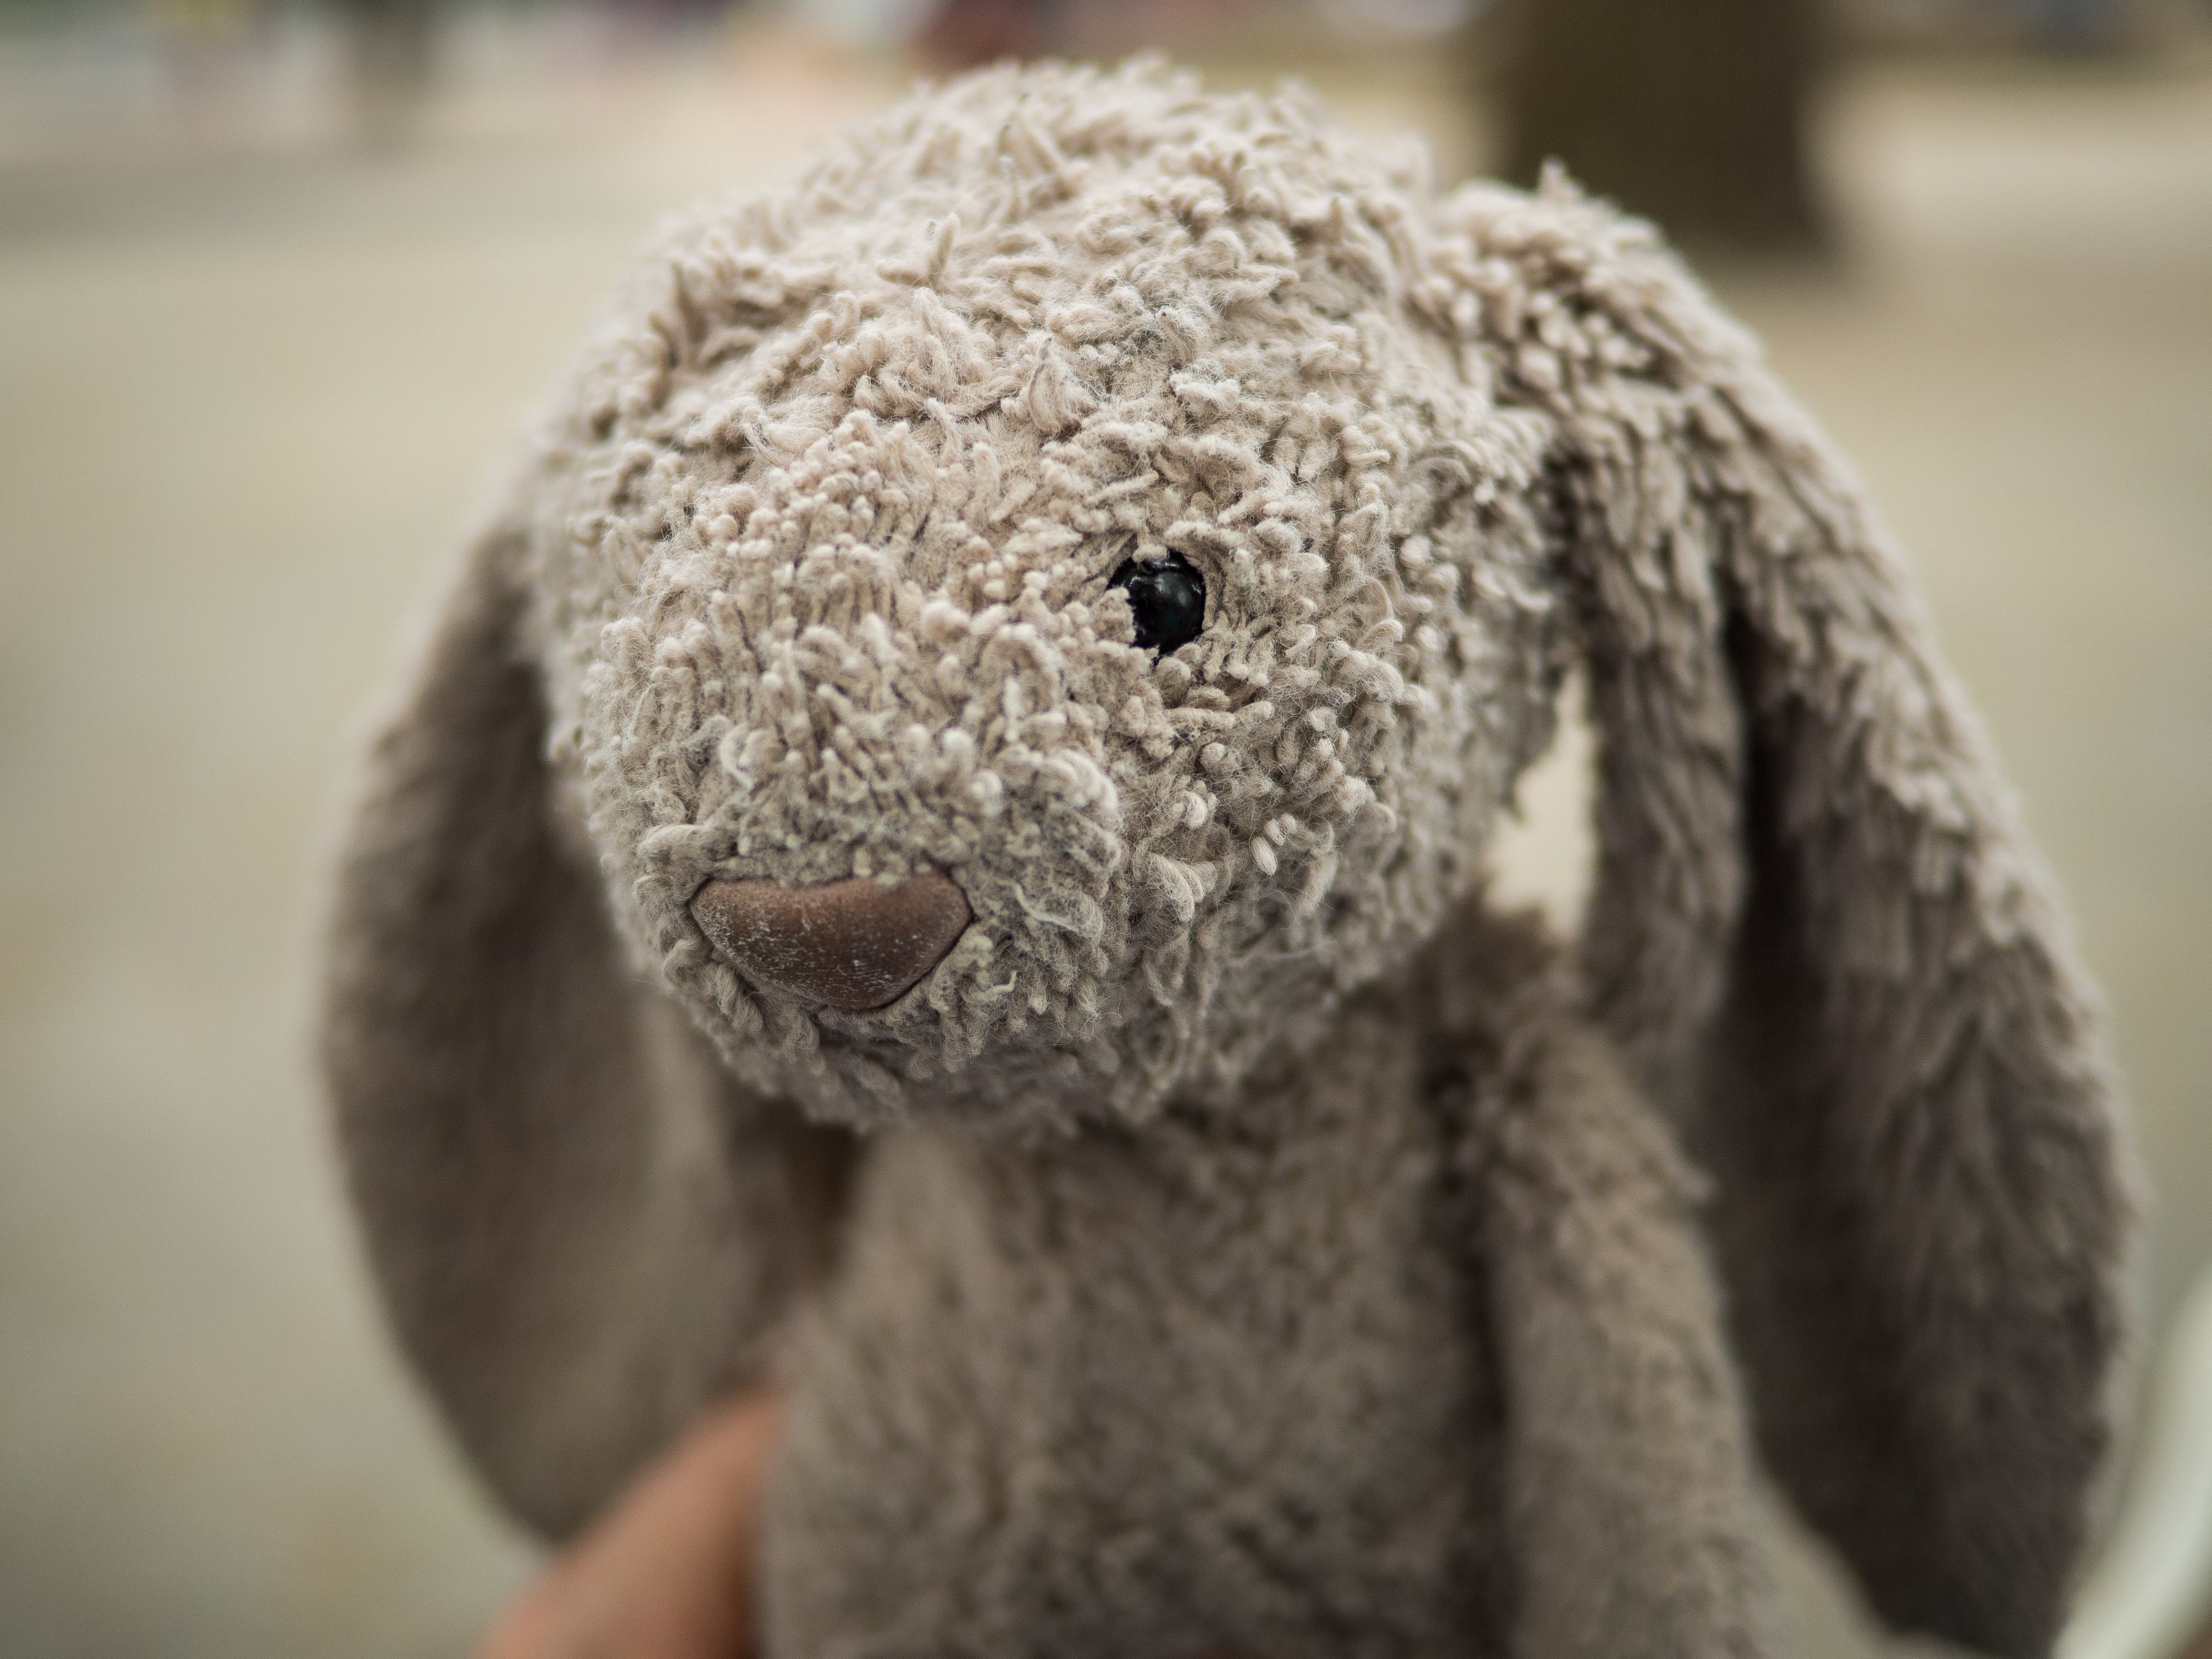
[[(783, 38), (538, 49), (385, 155), (296, 111), (0, 115), (7, 1659), (453, 1655), (526, 1571), (352, 1259), (319, 836), (617, 263), (889, 88)], [(1480, 155), (1433, 86), (1327, 91)], [(1832, 142), (1849, 272), (1723, 285), (1913, 549), (2075, 898), (2163, 1312), (2212, 1256), (2212, 62), (1858, 71)], [(1801, 1652), (1865, 1650), (1792, 1582)]]

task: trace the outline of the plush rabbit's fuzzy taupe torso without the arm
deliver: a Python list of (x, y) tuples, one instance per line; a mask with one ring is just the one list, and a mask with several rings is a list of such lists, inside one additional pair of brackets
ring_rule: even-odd
[(849, 1274), (783, 1367), (776, 1652), (1493, 1650), (1480, 1245), (1380, 1037), (1347, 1020), (1265, 1141), (867, 1144)]

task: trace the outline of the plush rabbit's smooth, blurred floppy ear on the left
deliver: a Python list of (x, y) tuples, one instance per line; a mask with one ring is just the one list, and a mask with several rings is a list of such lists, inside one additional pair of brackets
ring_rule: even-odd
[(467, 1451), (564, 1533), (763, 1360), (832, 1177), (633, 984), (542, 759), (524, 538), (491, 531), (378, 737), (323, 1068), (394, 1327)]

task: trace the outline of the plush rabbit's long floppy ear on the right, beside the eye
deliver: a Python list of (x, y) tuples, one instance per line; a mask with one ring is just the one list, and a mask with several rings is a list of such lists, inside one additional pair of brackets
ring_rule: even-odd
[(1761, 1447), (1893, 1626), (2042, 1655), (2128, 1232), (2093, 1000), (1856, 482), (1646, 226), (1447, 204), (1557, 429), (1599, 745), (1595, 1013), (1719, 1183)]

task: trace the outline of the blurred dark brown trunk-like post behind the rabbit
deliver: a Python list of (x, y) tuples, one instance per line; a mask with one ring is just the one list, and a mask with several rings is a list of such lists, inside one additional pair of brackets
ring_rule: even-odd
[(1814, 0), (1515, 0), (1504, 33), (1515, 179), (1557, 157), (1699, 250), (1829, 246), (1805, 139)]

